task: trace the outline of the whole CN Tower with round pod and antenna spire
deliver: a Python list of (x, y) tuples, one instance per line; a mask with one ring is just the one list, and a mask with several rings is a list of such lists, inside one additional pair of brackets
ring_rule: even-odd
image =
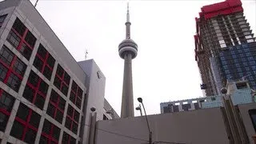
[(130, 14), (129, 3), (127, 3), (126, 14), (126, 39), (119, 46), (119, 56), (124, 59), (124, 73), (122, 84), (122, 110), (121, 118), (134, 117), (134, 94), (132, 77), (132, 59), (136, 58), (138, 52), (137, 44), (130, 38)]

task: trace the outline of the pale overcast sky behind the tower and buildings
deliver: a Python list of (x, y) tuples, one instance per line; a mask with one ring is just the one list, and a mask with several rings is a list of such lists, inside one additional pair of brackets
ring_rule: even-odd
[[(130, 1), (131, 38), (138, 44), (134, 107), (142, 97), (147, 114), (159, 114), (160, 102), (202, 97), (194, 61), (194, 18), (202, 6), (214, 2), (222, 1)], [(242, 4), (255, 34), (256, 2)], [(120, 114), (124, 62), (118, 44), (125, 38), (126, 1), (39, 0), (37, 9), (77, 61), (88, 50), (88, 58), (106, 76), (105, 98)]]

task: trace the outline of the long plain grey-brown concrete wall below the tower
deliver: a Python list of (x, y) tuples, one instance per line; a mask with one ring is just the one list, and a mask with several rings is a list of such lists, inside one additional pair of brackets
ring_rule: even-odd
[[(219, 108), (157, 114), (148, 118), (153, 142), (229, 143)], [(145, 117), (99, 121), (96, 134), (97, 144), (141, 144), (149, 138)]]

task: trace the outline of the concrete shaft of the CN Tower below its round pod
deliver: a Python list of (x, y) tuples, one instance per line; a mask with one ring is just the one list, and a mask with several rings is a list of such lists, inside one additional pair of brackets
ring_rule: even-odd
[(132, 54), (124, 55), (125, 66), (122, 85), (122, 111), (121, 118), (134, 117), (134, 94), (132, 78)]

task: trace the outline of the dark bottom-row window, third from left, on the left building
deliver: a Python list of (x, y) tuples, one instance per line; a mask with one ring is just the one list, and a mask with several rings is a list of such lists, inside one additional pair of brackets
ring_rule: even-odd
[(42, 126), (42, 134), (39, 143), (56, 143), (58, 144), (58, 138), (60, 134), (60, 129), (53, 123), (45, 119)]

